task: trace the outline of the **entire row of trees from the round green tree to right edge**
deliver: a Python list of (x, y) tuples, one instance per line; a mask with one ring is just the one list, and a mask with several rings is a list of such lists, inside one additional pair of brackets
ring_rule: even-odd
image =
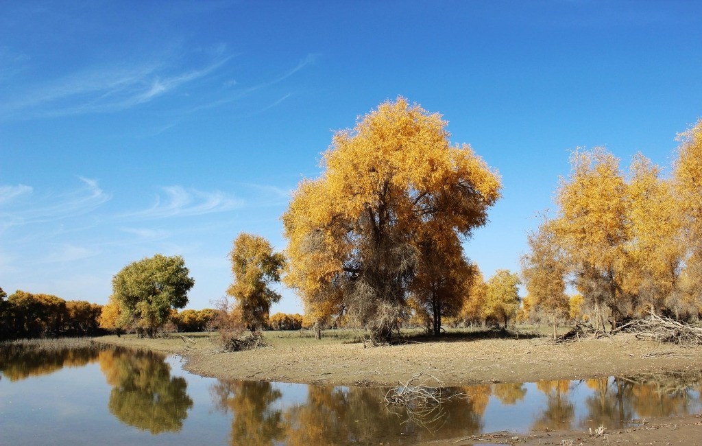
[[(554, 330), (570, 317), (595, 329), (649, 311), (699, 317), (702, 120), (680, 135), (670, 176), (643, 155), (625, 173), (603, 148), (576, 150), (555, 213), (528, 235), (521, 274), (498, 270), (488, 280), (464, 242), (488, 222), (501, 178), (470, 145), (451, 144), (446, 125), (397, 98), (336, 132), (322, 174), (298, 185), (282, 216), (284, 252), (241, 233), (227, 296), (206, 315), (184, 311), (180, 323), (312, 327), (317, 336), (362, 327), (384, 343), (406, 324), (439, 335), (449, 324), (506, 326), (515, 317), (548, 320)], [(303, 301), (299, 319), (270, 316), (281, 283)], [(100, 326), (154, 336), (193, 285), (180, 256), (130, 263), (113, 277)]]

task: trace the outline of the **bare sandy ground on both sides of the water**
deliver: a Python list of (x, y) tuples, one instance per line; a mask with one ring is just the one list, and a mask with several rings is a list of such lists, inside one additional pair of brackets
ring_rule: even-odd
[[(141, 346), (186, 358), (185, 369), (220, 379), (253, 379), (324, 385), (394, 385), (427, 371), (446, 386), (631, 376), (702, 369), (702, 346), (640, 341), (631, 335), (555, 344), (549, 339), (437, 341), (364, 348), (361, 343), (316, 343), (305, 339), (237, 353), (213, 353), (208, 339), (102, 341)], [(428, 445), (702, 445), (702, 419), (647, 420), (637, 428), (590, 436), (583, 431), (492, 433)]]

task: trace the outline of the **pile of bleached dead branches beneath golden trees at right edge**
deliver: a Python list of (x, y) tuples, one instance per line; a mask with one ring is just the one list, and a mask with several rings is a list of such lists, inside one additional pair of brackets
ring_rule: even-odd
[(617, 329), (633, 333), (637, 339), (651, 339), (682, 345), (702, 345), (702, 328), (668, 317), (650, 313), (646, 319), (635, 320)]

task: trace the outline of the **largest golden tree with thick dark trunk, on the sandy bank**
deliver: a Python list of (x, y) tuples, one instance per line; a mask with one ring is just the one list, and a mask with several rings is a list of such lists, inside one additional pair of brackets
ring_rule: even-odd
[(445, 127), (398, 98), (333, 136), (324, 173), (300, 183), (283, 216), (285, 280), (308, 312), (345, 310), (387, 340), (405, 315), (420, 243), (451, 247), (486, 223), (500, 179), (470, 146), (451, 145)]

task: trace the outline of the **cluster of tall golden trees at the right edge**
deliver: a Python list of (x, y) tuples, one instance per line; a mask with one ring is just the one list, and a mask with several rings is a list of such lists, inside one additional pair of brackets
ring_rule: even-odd
[(557, 211), (528, 237), (524, 283), (536, 312), (568, 314), (573, 284), (595, 329), (652, 312), (702, 315), (702, 119), (678, 136), (669, 176), (642, 154), (627, 172), (598, 147), (577, 150)]

